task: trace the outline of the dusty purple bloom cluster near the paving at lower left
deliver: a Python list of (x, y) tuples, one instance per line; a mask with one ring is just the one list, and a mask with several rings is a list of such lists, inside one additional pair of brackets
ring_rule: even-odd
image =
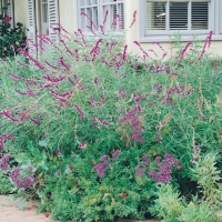
[(13, 171), (11, 172), (11, 180), (19, 186), (19, 188), (29, 188), (37, 183), (34, 175), (29, 174), (23, 176), (21, 179), (21, 169), (20, 168), (14, 168)]

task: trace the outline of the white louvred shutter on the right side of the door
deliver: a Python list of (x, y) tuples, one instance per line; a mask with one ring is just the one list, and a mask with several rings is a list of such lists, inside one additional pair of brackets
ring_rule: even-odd
[[(49, 38), (53, 42), (59, 41), (59, 37), (54, 33), (54, 28), (58, 28), (58, 0), (48, 0), (48, 10), (49, 10)], [(52, 29), (52, 28), (53, 29)]]

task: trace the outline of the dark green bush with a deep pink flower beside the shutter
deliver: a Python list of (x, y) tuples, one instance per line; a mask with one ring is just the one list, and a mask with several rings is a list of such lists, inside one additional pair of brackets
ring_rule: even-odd
[(18, 54), (18, 49), (24, 48), (27, 41), (22, 23), (18, 22), (14, 28), (11, 28), (11, 18), (7, 16), (9, 6), (10, 3), (0, 9), (0, 58), (3, 59)]

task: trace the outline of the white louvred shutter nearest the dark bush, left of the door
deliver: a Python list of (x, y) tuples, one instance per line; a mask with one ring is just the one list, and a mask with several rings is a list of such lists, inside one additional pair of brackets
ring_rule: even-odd
[(28, 4), (28, 39), (36, 44), (37, 34), (36, 34), (36, 18), (34, 18), (34, 0), (27, 0), (27, 4)]

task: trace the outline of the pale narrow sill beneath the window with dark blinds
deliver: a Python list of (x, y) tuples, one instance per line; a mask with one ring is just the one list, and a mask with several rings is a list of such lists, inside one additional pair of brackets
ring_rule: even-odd
[[(192, 41), (193, 39), (202, 41), (205, 40), (208, 34), (196, 34), (198, 37), (194, 38), (194, 36), (182, 36), (180, 41)], [(212, 40), (214, 41), (222, 41), (222, 34), (213, 34)], [(176, 41), (173, 36), (149, 36), (149, 37), (142, 37), (139, 39), (141, 43), (149, 43), (149, 42), (170, 42), (170, 41)]]

